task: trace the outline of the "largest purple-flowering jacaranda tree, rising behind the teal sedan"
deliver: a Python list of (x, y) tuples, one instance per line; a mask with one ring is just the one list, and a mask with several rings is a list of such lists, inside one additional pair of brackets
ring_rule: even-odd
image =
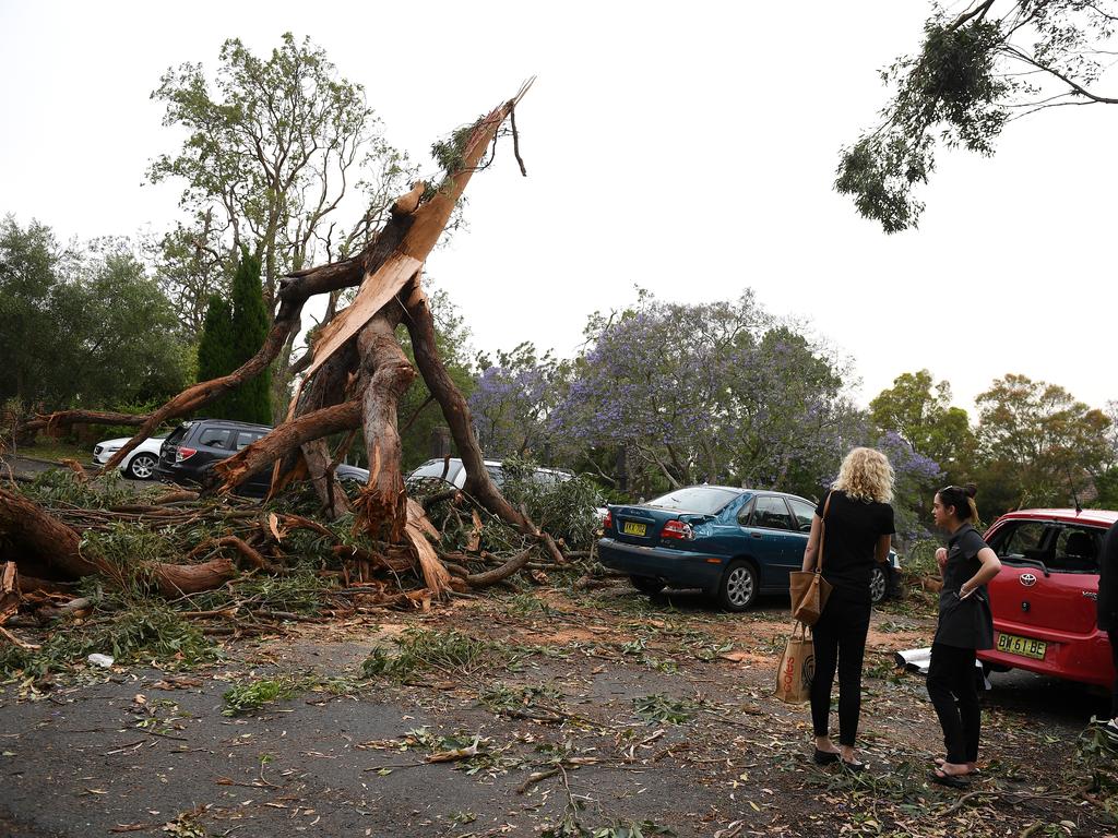
[(587, 335), (552, 427), (623, 448), (642, 488), (708, 480), (817, 495), (858, 425), (839, 364), (750, 292), (703, 304), (642, 294), (591, 317)]

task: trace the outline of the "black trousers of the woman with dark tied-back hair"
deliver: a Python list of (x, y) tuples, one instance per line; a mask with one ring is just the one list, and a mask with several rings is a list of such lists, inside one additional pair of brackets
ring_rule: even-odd
[(932, 644), (928, 695), (939, 716), (939, 726), (944, 729), (947, 761), (956, 764), (976, 762), (982, 710), (978, 706), (975, 650)]

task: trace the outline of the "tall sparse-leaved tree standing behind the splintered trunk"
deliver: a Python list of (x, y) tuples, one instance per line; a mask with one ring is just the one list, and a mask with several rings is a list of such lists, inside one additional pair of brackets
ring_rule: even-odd
[(193, 332), (199, 301), (225, 288), (243, 246), (262, 261), (271, 315), (278, 278), (362, 247), (409, 177), (361, 85), (309, 39), (287, 32), (260, 58), (233, 38), (219, 61), (212, 85), (201, 64), (184, 64), (152, 94), (163, 124), (188, 132), (149, 178), (186, 183), (189, 220), (164, 237), (160, 277)]

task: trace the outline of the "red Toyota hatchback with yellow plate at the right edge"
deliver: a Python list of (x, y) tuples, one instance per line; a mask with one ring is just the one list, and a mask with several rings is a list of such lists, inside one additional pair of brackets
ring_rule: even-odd
[(1110, 687), (1110, 641), (1096, 621), (1099, 551), (1118, 512), (1021, 510), (986, 533), (1002, 560), (989, 583), (994, 648), (978, 653), (992, 669), (1029, 669)]

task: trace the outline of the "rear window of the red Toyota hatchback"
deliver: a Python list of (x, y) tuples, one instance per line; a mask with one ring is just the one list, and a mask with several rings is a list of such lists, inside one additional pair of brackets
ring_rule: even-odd
[(1102, 530), (1059, 521), (1011, 521), (991, 539), (998, 559), (1055, 573), (1098, 573)]

